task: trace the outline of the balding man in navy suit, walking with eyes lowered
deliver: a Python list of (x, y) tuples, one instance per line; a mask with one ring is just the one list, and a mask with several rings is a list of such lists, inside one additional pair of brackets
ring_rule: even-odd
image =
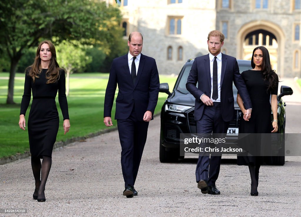
[(104, 123), (112, 126), (111, 111), (118, 84), (115, 119), (121, 144), (121, 167), (125, 190), (123, 195), (138, 195), (134, 188), (147, 128), (153, 120), (159, 94), (159, 73), (154, 58), (141, 54), (143, 37), (132, 32), (129, 53), (113, 60), (104, 98)]

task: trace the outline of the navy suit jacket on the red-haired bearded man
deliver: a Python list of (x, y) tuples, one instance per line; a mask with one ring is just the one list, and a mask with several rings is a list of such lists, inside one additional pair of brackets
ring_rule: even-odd
[[(196, 84), (198, 82), (198, 87)], [(244, 101), (244, 107), (252, 108), (247, 87), (239, 73), (236, 58), (222, 54), (221, 69), (221, 110), (222, 118), (228, 122), (234, 119), (234, 97), (232, 83), (239, 91)], [(195, 97), (194, 119), (200, 120), (205, 108), (205, 104), (200, 100), (202, 94), (211, 97), (211, 76), (210, 76), (210, 59), (209, 54), (194, 59), (187, 83), (187, 90)]]

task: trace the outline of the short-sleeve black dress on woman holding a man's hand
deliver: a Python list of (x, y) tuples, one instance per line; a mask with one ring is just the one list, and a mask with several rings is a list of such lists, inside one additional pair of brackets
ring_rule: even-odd
[[(251, 102), (252, 102), (252, 113), (249, 121), (245, 121), (243, 114), (240, 117), (240, 125), (238, 132), (241, 133), (270, 133), (272, 131), (271, 123), (271, 94), (277, 95), (278, 84), (275, 90), (267, 91), (268, 81), (264, 81), (262, 78), (262, 72), (260, 70), (247, 70), (241, 73), (241, 77), (247, 86)], [(247, 109), (247, 108), (246, 108)], [(238, 136), (240, 138), (240, 136)], [(254, 137), (251, 137), (254, 138)], [(261, 140), (259, 141), (247, 141), (249, 142), (249, 148), (257, 148), (260, 150)], [(243, 147), (248, 144), (241, 144)], [(256, 156), (237, 156), (237, 165), (256, 165), (260, 162), (256, 162), (262, 158)]]

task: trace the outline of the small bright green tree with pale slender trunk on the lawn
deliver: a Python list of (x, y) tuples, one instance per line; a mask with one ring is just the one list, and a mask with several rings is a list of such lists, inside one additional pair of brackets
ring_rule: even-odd
[(70, 89), (70, 74), (75, 70), (84, 68), (92, 61), (90, 56), (86, 55), (85, 46), (79, 41), (62, 41), (56, 46), (57, 62), (60, 67), (64, 68), (67, 74), (66, 77), (66, 95), (69, 95)]

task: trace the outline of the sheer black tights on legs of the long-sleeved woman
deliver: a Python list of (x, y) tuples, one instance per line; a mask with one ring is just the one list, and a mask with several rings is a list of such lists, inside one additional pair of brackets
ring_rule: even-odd
[(33, 169), (33, 177), (35, 178), (36, 184), (36, 189), (33, 193), (33, 196), (37, 196), (38, 198), (45, 198), (44, 191), (48, 174), (51, 168), (51, 157), (43, 156), (42, 163), (39, 158), (32, 158), (31, 167)]

